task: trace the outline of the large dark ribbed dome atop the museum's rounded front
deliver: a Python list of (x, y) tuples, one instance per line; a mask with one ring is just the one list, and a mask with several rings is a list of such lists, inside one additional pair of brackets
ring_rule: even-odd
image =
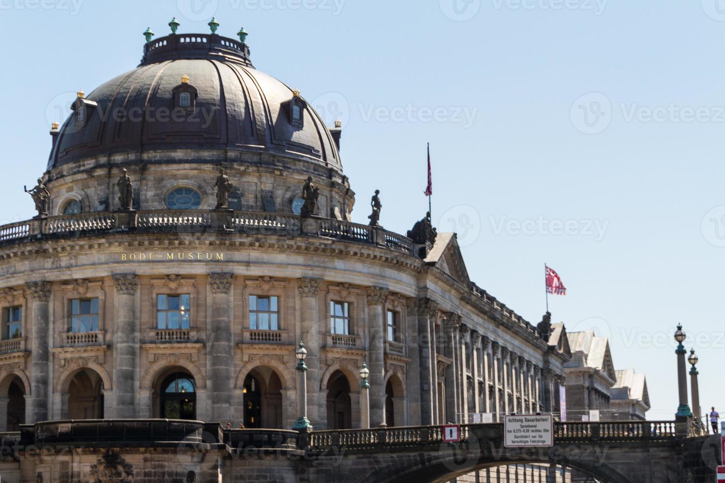
[[(191, 106), (183, 104), (187, 96), (179, 109), (180, 92), (191, 94)], [(271, 151), (342, 169), (335, 139), (314, 109), (255, 70), (246, 43), (220, 35), (172, 34), (146, 43), (135, 70), (79, 92), (72, 109), (54, 140), (49, 170), (148, 151), (154, 151), (149, 162), (163, 162), (163, 151), (180, 149)]]

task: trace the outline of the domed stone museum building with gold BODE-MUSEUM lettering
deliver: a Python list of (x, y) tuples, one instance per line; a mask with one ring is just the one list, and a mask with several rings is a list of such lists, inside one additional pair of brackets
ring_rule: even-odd
[[(210, 424), (225, 441), (291, 430), (305, 407), (312, 434), (558, 417), (563, 325), (476, 285), (429, 215), (386, 230), (379, 199), (365, 203), (376, 186), (355, 187), (373, 214), (352, 222), (341, 123), (256, 70), (244, 30), (170, 25), (146, 31), (138, 67), (78, 91), (47, 167), (32, 164), (38, 216), (0, 227), (0, 431), (20, 438), (2, 482), (241, 481), (240, 461), (182, 465), (163, 442)], [(610, 369), (611, 386), (633, 380)], [(141, 442), (104, 446), (122, 427), (108, 424)], [(71, 437), (85, 449), (25, 453)]]

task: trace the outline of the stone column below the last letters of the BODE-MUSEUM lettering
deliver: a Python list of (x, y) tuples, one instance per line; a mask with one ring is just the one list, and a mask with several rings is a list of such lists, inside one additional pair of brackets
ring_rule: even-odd
[(210, 273), (209, 287), (212, 291), (212, 317), (207, 325), (207, 344), (211, 347), (207, 356), (207, 382), (209, 382), (209, 399), (211, 420), (231, 421), (232, 361), (234, 356), (234, 339), (231, 333), (231, 314), (229, 314), (229, 290), (231, 290), (232, 274)]

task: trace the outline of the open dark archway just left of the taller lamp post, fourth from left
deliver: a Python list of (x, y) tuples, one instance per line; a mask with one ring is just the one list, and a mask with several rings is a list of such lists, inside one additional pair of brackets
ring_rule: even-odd
[(282, 381), (276, 371), (257, 366), (244, 378), (244, 427), (283, 427)]

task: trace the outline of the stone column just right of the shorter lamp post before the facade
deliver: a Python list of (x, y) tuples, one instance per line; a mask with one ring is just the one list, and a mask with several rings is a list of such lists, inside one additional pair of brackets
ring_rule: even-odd
[(370, 363), (370, 424), (385, 426), (385, 317), (383, 305), (388, 289), (367, 287), (368, 300), (368, 360)]

